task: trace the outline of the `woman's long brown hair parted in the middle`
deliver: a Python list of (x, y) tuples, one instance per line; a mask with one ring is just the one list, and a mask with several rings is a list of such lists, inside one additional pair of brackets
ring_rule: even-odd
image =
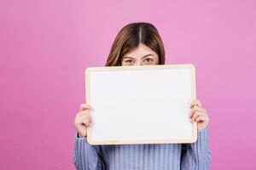
[(135, 22), (119, 31), (105, 66), (120, 66), (124, 55), (137, 48), (140, 42), (158, 54), (160, 65), (165, 65), (165, 48), (157, 29), (150, 23)]

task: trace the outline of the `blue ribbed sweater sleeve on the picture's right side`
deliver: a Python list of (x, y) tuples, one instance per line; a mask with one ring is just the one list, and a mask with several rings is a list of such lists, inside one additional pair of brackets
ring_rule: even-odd
[(198, 139), (192, 144), (183, 144), (181, 170), (207, 170), (211, 152), (208, 145), (208, 129), (198, 131)]

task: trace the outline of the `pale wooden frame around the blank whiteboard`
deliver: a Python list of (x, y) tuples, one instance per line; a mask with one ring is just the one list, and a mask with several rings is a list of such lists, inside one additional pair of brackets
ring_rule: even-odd
[[(192, 64), (183, 65), (140, 65), (140, 66), (108, 66), (108, 67), (89, 67), (85, 70), (85, 97), (87, 104), (91, 105), (90, 101), (90, 73), (96, 71), (148, 71), (148, 70), (164, 70), (164, 69), (189, 69), (191, 71), (191, 101), (196, 99), (195, 89), (195, 66)], [(91, 105), (94, 107), (93, 105)], [(93, 113), (92, 113), (93, 114)], [(193, 143), (197, 139), (197, 124), (191, 124), (191, 138), (189, 139), (138, 139), (138, 140), (101, 140), (92, 139), (92, 128), (88, 127), (87, 141), (89, 144), (172, 144), (172, 143)], [(109, 131), (108, 131), (109, 132)]]

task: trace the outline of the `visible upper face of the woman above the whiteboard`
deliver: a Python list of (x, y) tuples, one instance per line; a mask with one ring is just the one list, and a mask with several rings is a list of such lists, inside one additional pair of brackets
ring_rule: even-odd
[(130, 53), (125, 54), (122, 59), (122, 66), (124, 65), (159, 65), (158, 54), (152, 49), (148, 48), (143, 43), (132, 50)]

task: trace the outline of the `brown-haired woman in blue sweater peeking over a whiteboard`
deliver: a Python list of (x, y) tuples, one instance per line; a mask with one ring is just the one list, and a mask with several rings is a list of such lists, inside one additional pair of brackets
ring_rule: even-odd
[[(159, 32), (152, 24), (139, 22), (119, 31), (105, 66), (164, 64), (165, 50)], [(209, 117), (198, 99), (192, 101), (190, 108), (191, 122), (198, 124), (195, 143), (90, 145), (86, 140), (86, 130), (94, 123), (91, 117), (93, 109), (88, 104), (81, 104), (74, 121), (77, 132), (73, 163), (79, 170), (208, 169)]]

